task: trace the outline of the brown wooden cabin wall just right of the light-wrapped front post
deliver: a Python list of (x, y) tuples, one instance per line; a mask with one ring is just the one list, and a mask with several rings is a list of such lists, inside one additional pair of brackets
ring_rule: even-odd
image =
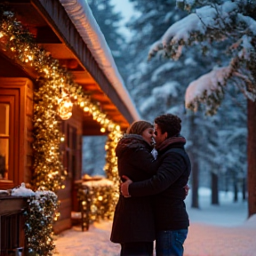
[(61, 130), (65, 134), (65, 141), (60, 145), (62, 162), (68, 172), (65, 188), (58, 191), (60, 200), (60, 217), (53, 226), (55, 234), (71, 228), (71, 212), (78, 211), (75, 180), (82, 175), (82, 132), (84, 111), (74, 106), (72, 116), (62, 121)]

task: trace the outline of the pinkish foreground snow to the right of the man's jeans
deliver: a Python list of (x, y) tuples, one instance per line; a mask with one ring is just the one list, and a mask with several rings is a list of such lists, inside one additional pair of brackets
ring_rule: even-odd
[(256, 216), (253, 217), (253, 221), (236, 228), (192, 223), (184, 256), (256, 256)]

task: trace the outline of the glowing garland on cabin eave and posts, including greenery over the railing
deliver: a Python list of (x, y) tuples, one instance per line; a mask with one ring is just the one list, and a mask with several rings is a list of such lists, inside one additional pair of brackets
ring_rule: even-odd
[[(29, 31), (24, 28), (4, 4), (0, 4), (0, 48), (9, 58), (24, 68), (30, 68), (38, 75), (34, 94), (34, 143), (35, 161), (33, 165), (32, 184), (34, 189), (58, 191), (64, 188), (63, 180), (67, 172), (60, 161), (60, 117), (68, 119), (70, 108), (76, 104), (92, 115), (101, 125), (101, 132), (108, 130), (107, 164), (105, 170), (109, 180), (116, 186), (113, 202), (116, 202), (117, 174), (115, 149), (121, 136), (120, 126), (113, 123), (100, 111), (98, 103), (74, 83), (66, 68), (60, 67), (59, 61), (52, 58), (49, 52), (39, 47)], [(65, 101), (67, 100), (68, 101)], [(73, 102), (70, 104), (70, 102)], [(68, 112), (60, 107), (67, 107)], [(71, 112), (72, 113), (72, 112)], [(61, 115), (60, 115), (61, 114)], [(113, 172), (113, 173), (111, 173)], [(53, 193), (53, 192), (52, 192)], [(111, 200), (110, 200), (111, 201)], [(44, 205), (43, 205), (44, 204)], [(35, 255), (52, 255), (52, 221), (57, 209), (57, 197), (45, 194), (29, 201), (28, 219), (26, 222), (26, 239), (28, 250)], [(108, 213), (113, 214), (110, 207)], [(54, 218), (55, 218), (54, 217)], [(42, 229), (41, 224), (45, 224)], [(47, 225), (46, 225), (47, 224)], [(38, 251), (39, 250), (39, 251)]]

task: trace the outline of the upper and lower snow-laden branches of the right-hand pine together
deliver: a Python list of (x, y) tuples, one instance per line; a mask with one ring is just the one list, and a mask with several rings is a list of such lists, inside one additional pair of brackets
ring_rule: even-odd
[[(196, 1), (181, 2), (191, 6), (196, 4)], [(256, 66), (256, 20), (246, 15), (248, 8), (244, 7), (243, 0), (223, 2), (210, 2), (211, 4), (196, 9), (194, 13), (172, 24), (164, 36), (151, 45), (148, 53), (148, 59), (159, 52), (165, 57), (178, 60), (184, 46), (201, 42), (212, 44), (213, 41), (224, 40), (231, 42), (228, 44), (228, 51), (225, 52), (231, 58), (229, 66), (218, 71), (212, 70), (188, 86), (186, 107), (196, 110), (196, 102), (201, 101), (206, 104), (206, 113), (210, 115), (214, 115), (220, 107), (224, 90), (222, 87), (234, 76), (242, 80), (243, 85), (238, 85), (247, 98), (255, 100), (256, 96), (255, 76), (251, 74), (255, 72), (253, 70)]]

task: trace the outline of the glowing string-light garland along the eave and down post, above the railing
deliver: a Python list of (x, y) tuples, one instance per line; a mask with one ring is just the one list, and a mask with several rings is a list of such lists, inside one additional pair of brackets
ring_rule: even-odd
[[(51, 53), (34, 42), (28, 29), (15, 19), (14, 13), (8, 11), (4, 4), (0, 4), (0, 47), (9, 58), (24, 68), (34, 70), (38, 76), (34, 90), (35, 161), (32, 185), (56, 192), (65, 188), (63, 180), (67, 175), (60, 161), (60, 139), (63, 136), (58, 114), (63, 92), (66, 97), (68, 95), (72, 104), (83, 108), (86, 113), (92, 115), (93, 120), (100, 123), (102, 132), (110, 132), (109, 140), (116, 140), (121, 135), (120, 126), (102, 113), (100, 104), (92, 102), (82, 86), (73, 81), (68, 70), (62, 68), (59, 61), (52, 58)], [(105, 170), (110, 173), (116, 156), (112, 151), (107, 152), (107, 155), (107, 161), (112, 163), (107, 163), (109, 168), (106, 167)], [(113, 175), (108, 174), (108, 177)]]

